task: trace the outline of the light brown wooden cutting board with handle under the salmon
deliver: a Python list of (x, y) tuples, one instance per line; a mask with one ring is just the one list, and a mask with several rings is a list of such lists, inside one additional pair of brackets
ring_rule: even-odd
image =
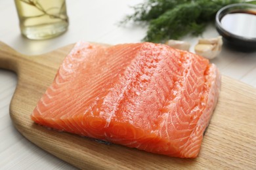
[(255, 169), (256, 89), (226, 76), (222, 77), (219, 103), (196, 159), (97, 143), (34, 124), (30, 114), (73, 45), (24, 56), (0, 42), (0, 68), (18, 75), (10, 115), (14, 126), (32, 143), (81, 169)]

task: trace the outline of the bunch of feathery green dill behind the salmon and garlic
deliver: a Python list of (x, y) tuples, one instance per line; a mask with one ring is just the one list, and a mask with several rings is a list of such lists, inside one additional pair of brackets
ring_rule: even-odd
[(184, 35), (200, 35), (222, 7), (243, 0), (148, 0), (133, 7), (134, 14), (122, 23), (146, 22), (148, 31), (143, 41), (163, 42)]

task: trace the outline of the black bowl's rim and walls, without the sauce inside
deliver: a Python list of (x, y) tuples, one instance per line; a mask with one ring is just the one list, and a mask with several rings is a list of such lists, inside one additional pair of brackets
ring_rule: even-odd
[[(248, 11), (253, 12), (253, 14), (255, 12), (256, 17), (256, 5), (251, 5), (247, 3), (236, 3), (232, 5), (227, 5), (217, 12), (215, 18), (215, 25), (219, 34), (223, 36), (223, 42), (226, 46), (243, 52), (254, 52), (256, 51), (256, 37), (236, 35), (225, 29), (223, 27), (223, 24), (221, 24), (221, 20), (226, 14), (248, 13)], [(243, 29), (248, 28), (246, 24), (241, 25), (241, 27), (244, 27)]]

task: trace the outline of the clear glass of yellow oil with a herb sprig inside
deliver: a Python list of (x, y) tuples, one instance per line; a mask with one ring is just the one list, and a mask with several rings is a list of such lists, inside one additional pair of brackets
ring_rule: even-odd
[(20, 30), (28, 39), (51, 39), (68, 29), (65, 0), (15, 0)]

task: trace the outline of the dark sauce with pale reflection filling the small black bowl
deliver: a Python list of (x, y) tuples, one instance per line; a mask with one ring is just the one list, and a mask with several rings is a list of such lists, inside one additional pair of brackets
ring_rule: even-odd
[(225, 14), (221, 25), (226, 31), (248, 39), (256, 39), (256, 12), (238, 10)]

